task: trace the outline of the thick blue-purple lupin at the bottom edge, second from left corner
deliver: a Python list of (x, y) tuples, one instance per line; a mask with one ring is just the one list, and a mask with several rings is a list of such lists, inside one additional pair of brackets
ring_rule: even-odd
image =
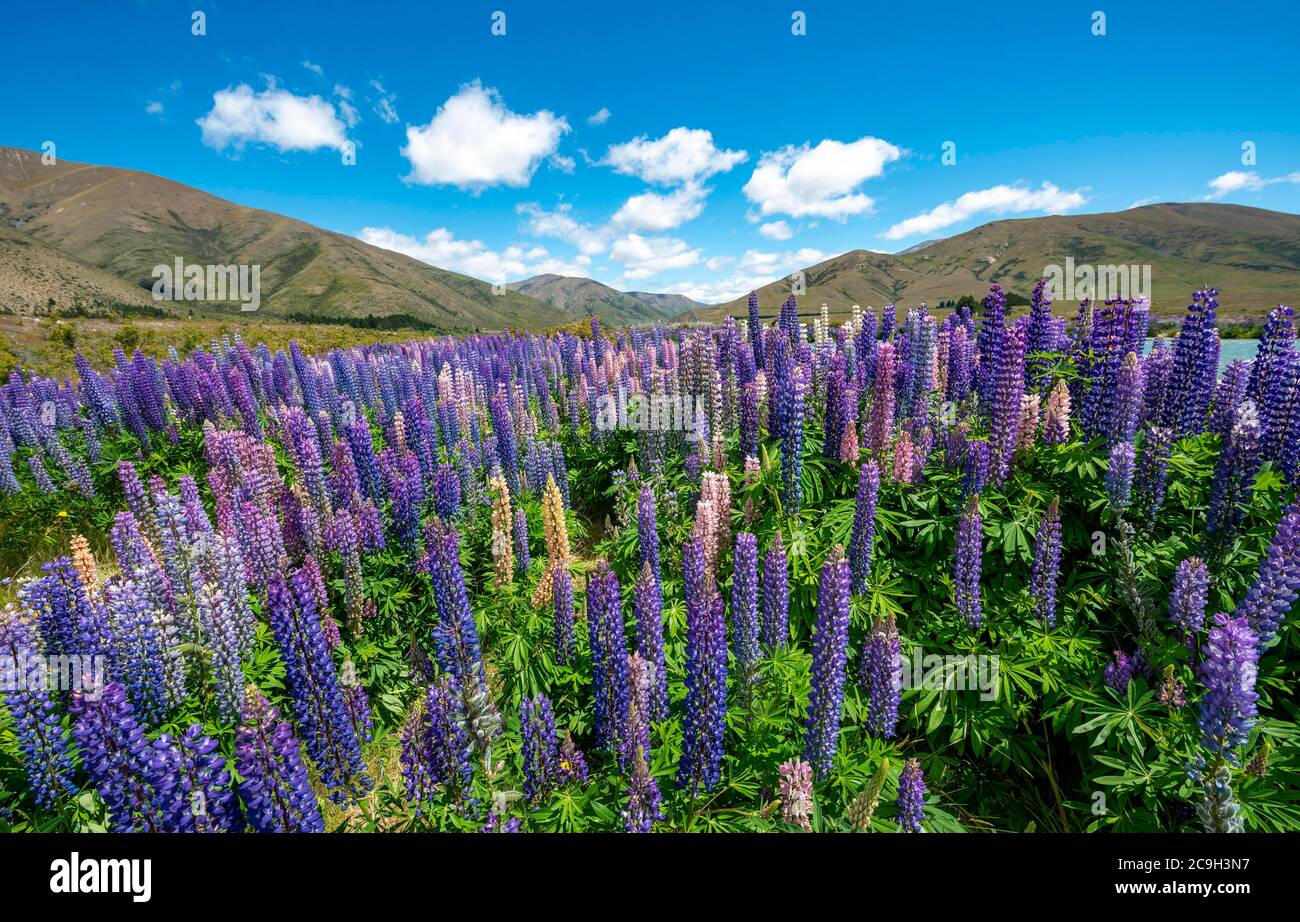
[(95, 697), (73, 692), (73, 739), (82, 765), (108, 808), (113, 832), (160, 832), (160, 795), (148, 770), (150, 741), (116, 681)]

